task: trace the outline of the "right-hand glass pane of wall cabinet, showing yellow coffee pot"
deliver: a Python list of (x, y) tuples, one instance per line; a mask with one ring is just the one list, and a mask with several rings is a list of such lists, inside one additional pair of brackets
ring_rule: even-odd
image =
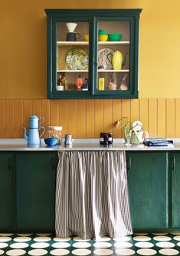
[(129, 89), (129, 22), (98, 22), (98, 91)]

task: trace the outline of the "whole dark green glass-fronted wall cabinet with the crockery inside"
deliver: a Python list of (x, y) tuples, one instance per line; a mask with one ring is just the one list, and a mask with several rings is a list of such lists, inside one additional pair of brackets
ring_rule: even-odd
[(45, 12), (47, 98), (138, 98), (142, 9)]

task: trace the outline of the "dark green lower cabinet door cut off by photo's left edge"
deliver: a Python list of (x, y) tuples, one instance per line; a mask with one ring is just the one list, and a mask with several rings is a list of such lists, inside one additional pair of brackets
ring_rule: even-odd
[(12, 155), (0, 153), (0, 228), (12, 228), (13, 201), (12, 201)]

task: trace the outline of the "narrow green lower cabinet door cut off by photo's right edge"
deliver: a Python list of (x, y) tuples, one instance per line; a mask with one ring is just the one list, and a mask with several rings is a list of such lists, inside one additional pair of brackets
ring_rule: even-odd
[(172, 171), (172, 228), (180, 228), (180, 152), (173, 152)]

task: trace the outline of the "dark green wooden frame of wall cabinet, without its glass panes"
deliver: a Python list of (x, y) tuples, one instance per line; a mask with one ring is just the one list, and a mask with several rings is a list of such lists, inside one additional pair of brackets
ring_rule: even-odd
[[(47, 98), (138, 98), (139, 14), (142, 9), (45, 9), (47, 14)], [(56, 91), (57, 22), (89, 23), (89, 91)], [(97, 90), (99, 21), (126, 21), (130, 25), (129, 89)]]

